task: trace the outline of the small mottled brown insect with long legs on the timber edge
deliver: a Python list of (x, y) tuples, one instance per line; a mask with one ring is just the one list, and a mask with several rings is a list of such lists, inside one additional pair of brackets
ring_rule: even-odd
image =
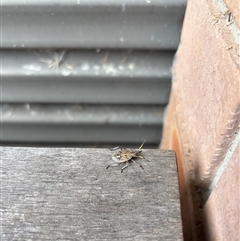
[[(148, 161), (145, 157), (140, 155), (140, 153), (142, 152), (141, 149), (142, 149), (144, 143), (145, 143), (145, 141), (142, 143), (142, 145), (137, 150), (131, 150), (131, 149), (127, 148), (127, 149), (121, 149), (120, 151), (114, 153), (112, 155), (112, 159), (114, 161), (116, 161), (117, 163), (108, 165), (106, 169), (108, 169), (109, 167), (118, 166), (122, 163), (125, 163), (125, 165), (121, 169), (121, 172), (123, 172), (123, 170), (128, 166), (129, 162), (131, 162), (131, 161), (136, 162), (134, 159), (140, 158), (140, 159), (144, 159), (144, 160)], [(119, 149), (119, 147), (115, 147), (112, 150), (116, 150), (116, 149)], [(142, 169), (144, 169), (141, 164), (139, 164), (139, 166)]]

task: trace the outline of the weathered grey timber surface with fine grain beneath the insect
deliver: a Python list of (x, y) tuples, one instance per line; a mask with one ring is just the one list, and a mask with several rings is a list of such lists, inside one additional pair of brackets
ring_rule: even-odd
[(0, 150), (1, 240), (183, 240), (172, 151), (121, 173), (108, 149)]

